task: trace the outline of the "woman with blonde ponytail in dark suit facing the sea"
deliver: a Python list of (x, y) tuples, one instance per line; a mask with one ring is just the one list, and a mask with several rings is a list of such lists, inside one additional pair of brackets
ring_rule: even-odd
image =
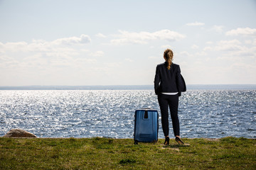
[(174, 129), (174, 136), (178, 145), (184, 143), (180, 137), (179, 121), (178, 121), (178, 96), (181, 96), (181, 91), (186, 91), (186, 84), (181, 77), (181, 69), (178, 64), (174, 64), (174, 53), (167, 49), (164, 51), (164, 62), (156, 67), (156, 75), (154, 78), (154, 90), (158, 96), (161, 123), (164, 131), (164, 145), (169, 145), (169, 120), (168, 106), (171, 112), (171, 120)]

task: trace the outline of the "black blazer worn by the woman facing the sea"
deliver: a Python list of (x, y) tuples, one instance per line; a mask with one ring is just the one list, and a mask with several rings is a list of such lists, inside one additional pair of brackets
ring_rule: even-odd
[(178, 64), (172, 63), (171, 69), (167, 69), (167, 62), (156, 66), (154, 90), (157, 95), (178, 92), (178, 96), (181, 96), (181, 91), (186, 91), (186, 83)]

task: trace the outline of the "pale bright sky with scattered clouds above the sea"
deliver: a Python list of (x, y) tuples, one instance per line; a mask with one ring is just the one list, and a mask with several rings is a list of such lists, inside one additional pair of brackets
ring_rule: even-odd
[(256, 84), (255, 0), (0, 0), (0, 86)]

